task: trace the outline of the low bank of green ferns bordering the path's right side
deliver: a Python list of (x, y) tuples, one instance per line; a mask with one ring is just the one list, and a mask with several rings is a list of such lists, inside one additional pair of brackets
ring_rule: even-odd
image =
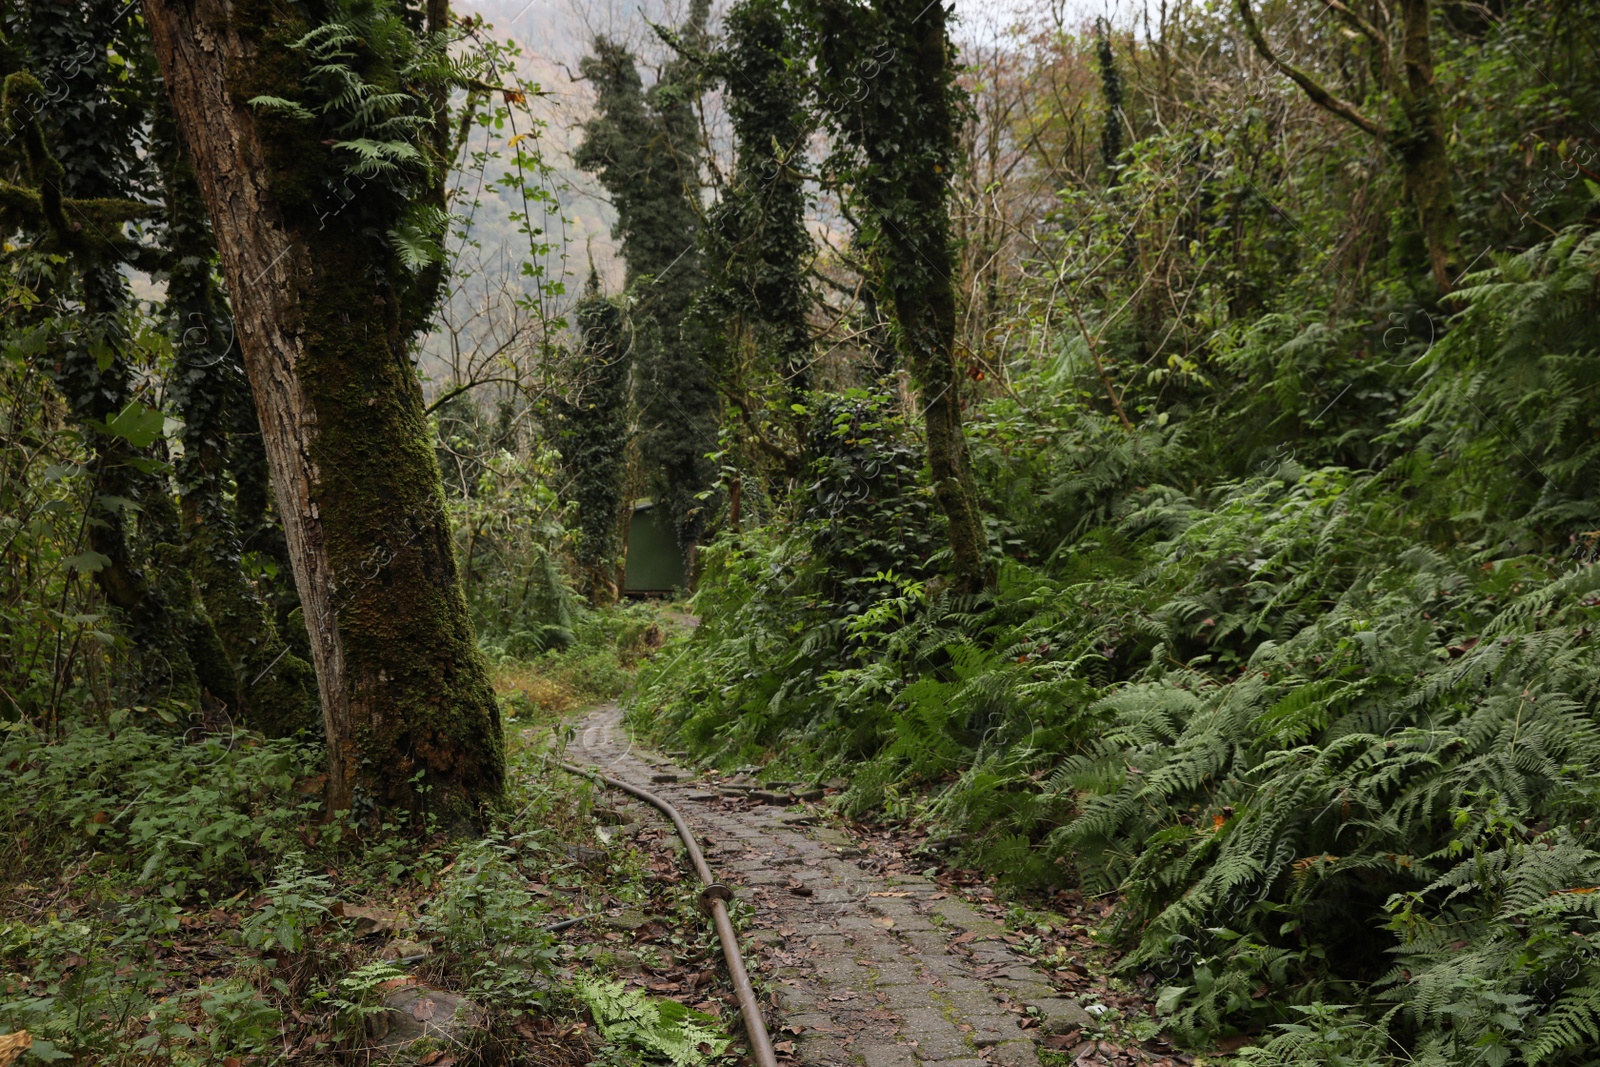
[[(1277, 403), (1250, 350), (1277, 328), (1230, 357), (1203, 438), (1022, 382), (974, 429), (992, 593), (942, 589), (867, 509), (826, 537), (744, 531), (702, 553), (702, 624), (634, 715), (710, 761), (845, 774), (853, 813), (926, 821), (1018, 886), (1114, 894), (1107, 933), (1189, 1041), (1589, 1062), (1600, 568), (1594, 435), (1565, 400), (1600, 358), (1594, 245), (1469, 277), (1403, 405), (1368, 408), (1365, 469), (1296, 440), (1219, 461)], [(1488, 461), (1506, 426), (1523, 464)]]

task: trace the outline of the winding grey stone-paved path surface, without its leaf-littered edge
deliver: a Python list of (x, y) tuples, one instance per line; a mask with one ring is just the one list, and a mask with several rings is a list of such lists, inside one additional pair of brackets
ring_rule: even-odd
[[(566, 753), (672, 801), (712, 873), (754, 907), (747, 934), (773, 949), (746, 963), (776, 998), (768, 1029), (794, 1041), (794, 1062), (1038, 1067), (1035, 1038), (1094, 1027), (1000, 941), (1000, 923), (928, 878), (862, 870), (843, 833), (805, 814), (722, 809), (704, 784), (632, 744), (616, 707), (582, 720)], [(1042, 1025), (1019, 1025), (1027, 1009)]]

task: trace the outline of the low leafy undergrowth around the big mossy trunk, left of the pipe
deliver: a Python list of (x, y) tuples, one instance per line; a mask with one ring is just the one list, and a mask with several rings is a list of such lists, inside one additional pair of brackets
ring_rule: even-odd
[[(581, 662), (528, 670), (571, 699), (614, 696), (654, 619), (592, 617)], [(518, 699), (502, 694), (507, 713)], [(22, 1062), (717, 1061), (715, 1019), (634, 987), (584, 993), (632, 966), (616, 933), (632, 925), (613, 926), (626, 910), (658, 915), (686, 960), (712, 958), (712, 936), (691, 880), (597, 832), (605, 801), (550, 765), (558, 710), (523, 712), (475, 840), (398, 811), (358, 837), (323, 808), (317, 745), (179, 733), (150, 709), (5, 725), (0, 1032), (27, 1030)], [(587, 918), (547, 929), (568, 917)], [(384, 1001), (408, 985), (472, 1005), (459, 1043), (381, 1041)]]

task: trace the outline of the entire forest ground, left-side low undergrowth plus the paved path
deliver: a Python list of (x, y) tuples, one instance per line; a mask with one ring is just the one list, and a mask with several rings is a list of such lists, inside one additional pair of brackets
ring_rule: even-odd
[(37, 1059), (115, 1067), (741, 1061), (670, 824), (555, 769), (565, 739), (570, 761), (675, 803), (736, 888), (782, 1062), (1194, 1062), (1162, 1040), (1149, 992), (1110, 977), (1093, 937), (1107, 904), (1002, 901), (914, 829), (842, 819), (837, 789), (634, 744), (614, 704), (594, 709), (662, 641), (634, 614), (618, 651), (498, 670), (509, 803), (482, 840), (405, 821), (347, 838), (317, 800), (314, 745), (13, 731), (0, 1032), (29, 1030)]

